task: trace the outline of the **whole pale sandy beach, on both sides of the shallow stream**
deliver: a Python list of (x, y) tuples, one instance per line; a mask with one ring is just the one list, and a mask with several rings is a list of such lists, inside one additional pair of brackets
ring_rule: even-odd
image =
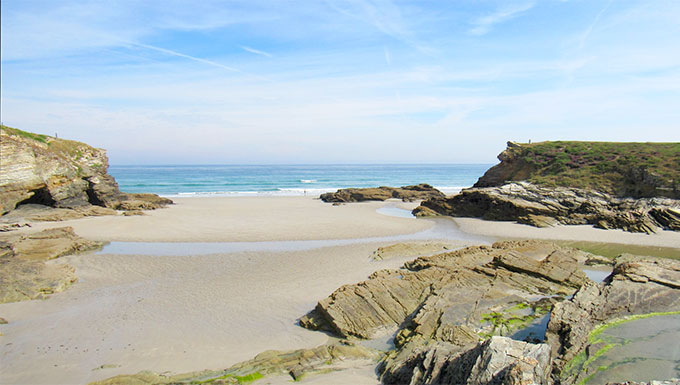
[[(0, 316), (9, 321), (0, 327), (0, 382), (87, 383), (140, 370), (222, 369), (264, 350), (323, 344), (325, 334), (296, 326), (297, 319), (343, 284), (413, 259), (371, 260), (378, 247), (395, 242), (443, 239), (460, 247), (497, 237), (527, 237), (680, 247), (680, 233), (643, 235), (587, 226), (536, 229), (476, 219), (403, 218), (380, 211), (415, 206), (399, 201), (333, 206), (311, 197), (184, 198), (145, 216), (33, 224), (30, 231), (67, 225), (86, 238), (114, 242), (251, 243), (238, 252), (225, 248), (206, 253), (197, 245), (181, 255), (154, 255), (148, 252), (153, 244), (140, 243), (138, 253), (105, 249), (50, 261), (74, 266), (79, 281), (47, 300), (0, 305)], [(354, 241), (256, 248), (271, 241), (348, 239)], [(331, 379), (376, 383), (370, 369), (335, 373)], [(268, 381), (284, 382), (274, 378), (263, 383)], [(321, 377), (304, 382), (317, 381)]]

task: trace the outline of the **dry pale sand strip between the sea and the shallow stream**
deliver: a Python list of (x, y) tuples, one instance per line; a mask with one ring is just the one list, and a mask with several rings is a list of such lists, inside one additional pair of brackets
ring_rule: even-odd
[[(384, 202), (333, 206), (312, 197), (173, 198), (143, 216), (104, 216), (59, 222), (82, 237), (124, 242), (229, 242), (343, 239), (413, 233), (431, 222), (376, 213)], [(390, 202), (396, 205), (396, 202)], [(414, 208), (415, 203), (399, 206)], [(54, 227), (34, 223), (33, 229)]]

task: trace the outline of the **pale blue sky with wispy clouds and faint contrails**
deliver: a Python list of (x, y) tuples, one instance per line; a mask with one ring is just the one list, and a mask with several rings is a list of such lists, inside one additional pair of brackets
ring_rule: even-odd
[(111, 164), (680, 141), (677, 0), (2, 0), (5, 125)]

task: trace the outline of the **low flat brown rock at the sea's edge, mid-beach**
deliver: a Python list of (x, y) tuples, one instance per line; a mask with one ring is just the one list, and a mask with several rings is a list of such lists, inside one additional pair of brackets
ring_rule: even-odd
[(428, 184), (419, 184), (404, 187), (347, 188), (334, 193), (321, 194), (319, 198), (324, 202), (332, 203), (384, 201), (391, 198), (412, 202), (444, 196), (444, 193)]

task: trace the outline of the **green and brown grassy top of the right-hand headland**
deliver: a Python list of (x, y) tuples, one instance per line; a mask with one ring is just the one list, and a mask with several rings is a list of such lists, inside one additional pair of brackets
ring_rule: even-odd
[(508, 142), (475, 187), (526, 180), (625, 197), (680, 198), (680, 143)]

